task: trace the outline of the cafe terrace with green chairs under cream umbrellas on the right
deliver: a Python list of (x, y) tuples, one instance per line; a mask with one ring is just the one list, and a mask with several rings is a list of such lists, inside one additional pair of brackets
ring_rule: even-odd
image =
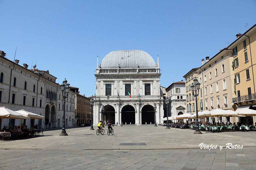
[[(234, 131), (255, 131), (256, 132), (256, 123), (253, 124), (245, 124), (238, 122), (224, 122), (220, 121), (220, 117), (229, 117), (227, 120), (231, 120), (230, 117), (246, 117), (246, 116), (256, 116), (256, 110), (243, 108), (237, 109), (236, 111), (232, 110), (222, 110), (222, 109), (214, 109), (211, 111), (205, 110), (202, 112), (198, 112), (199, 119), (199, 129), (200, 131), (207, 132), (234, 132)], [(168, 120), (171, 120), (172, 123), (169, 124), (169, 127), (180, 128), (180, 129), (196, 129), (196, 113), (189, 114), (185, 113), (182, 115), (175, 115), (168, 117)], [(205, 118), (204, 123), (201, 121), (202, 118)], [(208, 118), (208, 119), (207, 119)], [(211, 120), (210, 118), (217, 118), (217, 121), (208, 122), (207, 120)], [(167, 120), (167, 118), (161, 119)], [(216, 120), (216, 119), (212, 119)], [(239, 119), (237, 119), (239, 120)], [(160, 126), (163, 124), (159, 124)], [(167, 123), (165, 124), (167, 125)]]

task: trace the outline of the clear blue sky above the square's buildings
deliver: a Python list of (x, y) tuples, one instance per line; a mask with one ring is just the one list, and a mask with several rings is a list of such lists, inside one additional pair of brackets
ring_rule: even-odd
[[(159, 56), (161, 86), (184, 80), (256, 23), (256, 1), (3, 1), (0, 50), (94, 95), (99, 62), (114, 50)], [(33, 61), (33, 65), (32, 65)]]

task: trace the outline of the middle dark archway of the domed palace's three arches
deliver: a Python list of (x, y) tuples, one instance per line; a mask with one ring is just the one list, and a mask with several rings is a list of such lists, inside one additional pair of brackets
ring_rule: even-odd
[(133, 106), (125, 105), (122, 107), (121, 121), (123, 124), (135, 124), (135, 109)]

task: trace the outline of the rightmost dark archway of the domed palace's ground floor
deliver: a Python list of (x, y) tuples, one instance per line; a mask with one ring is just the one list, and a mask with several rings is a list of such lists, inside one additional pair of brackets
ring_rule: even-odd
[(141, 124), (150, 123), (155, 123), (155, 111), (153, 106), (147, 104), (141, 109)]

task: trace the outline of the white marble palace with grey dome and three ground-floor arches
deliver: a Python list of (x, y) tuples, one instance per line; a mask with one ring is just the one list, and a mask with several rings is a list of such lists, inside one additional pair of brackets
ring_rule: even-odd
[[(96, 69), (93, 122), (154, 124), (164, 116), (160, 69), (142, 50), (117, 50), (107, 54)], [(104, 111), (102, 108), (104, 107)]]

